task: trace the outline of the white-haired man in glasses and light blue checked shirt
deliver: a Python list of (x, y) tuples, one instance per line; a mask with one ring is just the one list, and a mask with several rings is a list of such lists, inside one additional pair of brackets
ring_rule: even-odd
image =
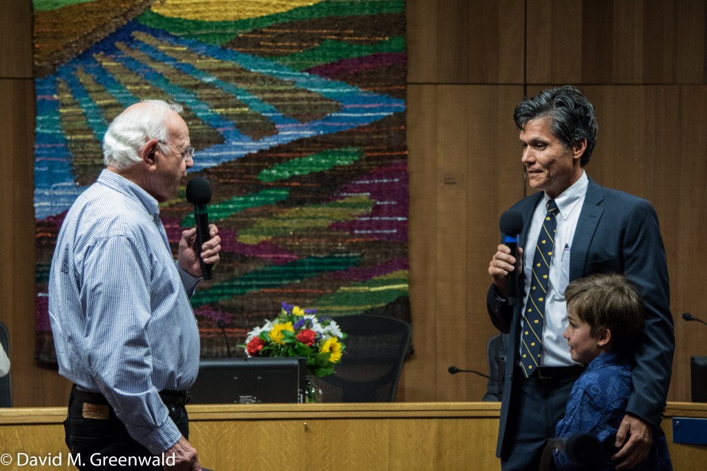
[(57, 238), (49, 317), (59, 373), (74, 382), (66, 443), (82, 470), (201, 470), (184, 407), (199, 371), (189, 297), (199, 256), (216, 263), (221, 238), (211, 225), (199, 251), (197, 229), (187, 229), (175, 261), (159, 218), (194, 165), (180, 112), (146, 100), (115, 118), (106, 168)]

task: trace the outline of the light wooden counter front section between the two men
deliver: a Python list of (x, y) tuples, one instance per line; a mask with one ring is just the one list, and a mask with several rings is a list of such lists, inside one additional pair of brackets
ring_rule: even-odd
[(291, 470), (500, 469), (497, 404), (194, 406), (189, 417), (192, 443), (216, 470), (265, 460)]

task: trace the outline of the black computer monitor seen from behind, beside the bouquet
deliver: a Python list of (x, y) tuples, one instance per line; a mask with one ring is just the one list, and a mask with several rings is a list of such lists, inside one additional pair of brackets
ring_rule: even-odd
[(302, 403), (304, 358), (201, 359), (191, 404)]

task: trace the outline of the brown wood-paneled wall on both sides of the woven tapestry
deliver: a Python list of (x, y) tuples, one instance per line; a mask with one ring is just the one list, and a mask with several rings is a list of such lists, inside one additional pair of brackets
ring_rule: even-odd
[[(16, 405), (63, 405), (68, 383), (34, 352), (31, 11), (0, 4), (0, 319), (11, 329)], [(653, 202), (671, 277), (677, 351), (670, 400), (690, 399), (689, 357), (707, 354), (706, 0), (407, 0), (414, 357), (398, 400), (479, 400), (486, 270), (498, 216), (525, 188), (513, 107), (572, 83), (592, 100), (587, 170)]]

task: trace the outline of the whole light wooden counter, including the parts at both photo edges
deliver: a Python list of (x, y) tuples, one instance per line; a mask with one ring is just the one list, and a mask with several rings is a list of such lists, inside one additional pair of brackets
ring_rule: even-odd
[[(499, 403), (190, 405), (191, 443), (216, 471), (500, 470)], [(0, 454), (56, 458), (69, 470), (64, 407), (0, 409)], [(669, 403), (663, 429), (675, 471), (707, 469), (707, 446), (672, 443), (672, 417), (707, 418), (707, 404)], [(27, 460), (25, 455), (20, 458)]]

